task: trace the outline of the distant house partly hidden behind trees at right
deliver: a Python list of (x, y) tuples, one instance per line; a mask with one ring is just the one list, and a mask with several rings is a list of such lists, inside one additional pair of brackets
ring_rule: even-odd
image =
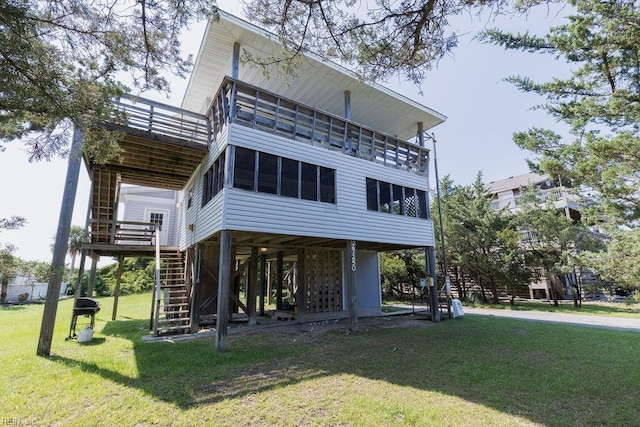
[[(579, 197), (571, 193), (566, 187), (558, 185), (554, 180), (549, 179), (547, 175), (533, 172), (492, 181), (485, 185), (487, 197), (491, 200), (491, 209), (507, 207), (513, 211), (517, 210), (520, 206), (519, 199), (522, 189), (527, 186), (534, 186), (540, 189), (540, 203), (546, 203), (551, 199), (557, 209), (564, 210), (567, 218), (580, 221)], [(526, 230), (523, 230), (523, 233), (526, 232)], [(591, 271), (582, 270), (580, 274), (583, 284), (594, 283), (597, 280), (597, 277)], [(565, 290), (565, 297), (572, 295), (573, 291), (568, 283), (563, 283), (563, 281), (557, 277), (550, 280), (553, 280), (555, 283), (549, 283), (545, 278), (542, 278), (538, 282), (530, 283), (529, 297), (531, 299), (550, 299), (552, 286), (556, 288), (561, 286)]]

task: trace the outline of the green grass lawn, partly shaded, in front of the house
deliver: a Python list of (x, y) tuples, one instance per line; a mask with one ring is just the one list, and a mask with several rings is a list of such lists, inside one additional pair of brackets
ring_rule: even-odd
[[(465, 316), (393, 316), (143, 343), (150, 295), (100, 299), (91, 343), (35, 356), (41, 305), (0, 308), (0, 423), (637, 425), (640, 333)], [(81, 327), (80, 327), (81, 328)]]

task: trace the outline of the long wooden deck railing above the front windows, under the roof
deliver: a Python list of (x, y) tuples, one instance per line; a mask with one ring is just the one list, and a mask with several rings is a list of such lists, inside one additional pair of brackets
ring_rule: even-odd
[(206, 115), (212, 123), (213, 139), (231, 122), (418, 174), (428, 173), (427, 148), (229, 77)]

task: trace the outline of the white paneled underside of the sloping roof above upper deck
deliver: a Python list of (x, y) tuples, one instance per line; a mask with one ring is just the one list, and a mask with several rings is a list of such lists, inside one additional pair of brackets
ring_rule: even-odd
[[(231, 75), (233, 45), (261, 57), (278, 56), (277, 38), (246, 21), (225, 12), (219, 21), (210, 22), (205, 31), (194, 71), (182, 101), (182, 108), (204, 113), (207, 100), (213, 98), (226, 75)], [(410, 140), (417, 124), (432, 128), (446, 117), (428, 107), (379, 84), (359, 80), (349, 70), (306, 55), (295, 76), (281, 76), (276, 70), (269, 78), (262, 69), (241, 63), (238, 79), (295, 102), (344, 117), (344, 91), (351, 95), (351, 120), (360, 125)]]

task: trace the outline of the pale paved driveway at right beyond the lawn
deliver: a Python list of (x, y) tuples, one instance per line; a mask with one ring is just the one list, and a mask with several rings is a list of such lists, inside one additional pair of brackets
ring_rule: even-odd
[(568, 323), (572, 325), (591, 326), (640, 332), (640, 319), (624, 317), (591, 316), (587, 314), (551, 313), (544, 311), (517, 311), (491, 308), (464, 307), (464, 314), (471, 316), (511, 317), (534, 322)]

